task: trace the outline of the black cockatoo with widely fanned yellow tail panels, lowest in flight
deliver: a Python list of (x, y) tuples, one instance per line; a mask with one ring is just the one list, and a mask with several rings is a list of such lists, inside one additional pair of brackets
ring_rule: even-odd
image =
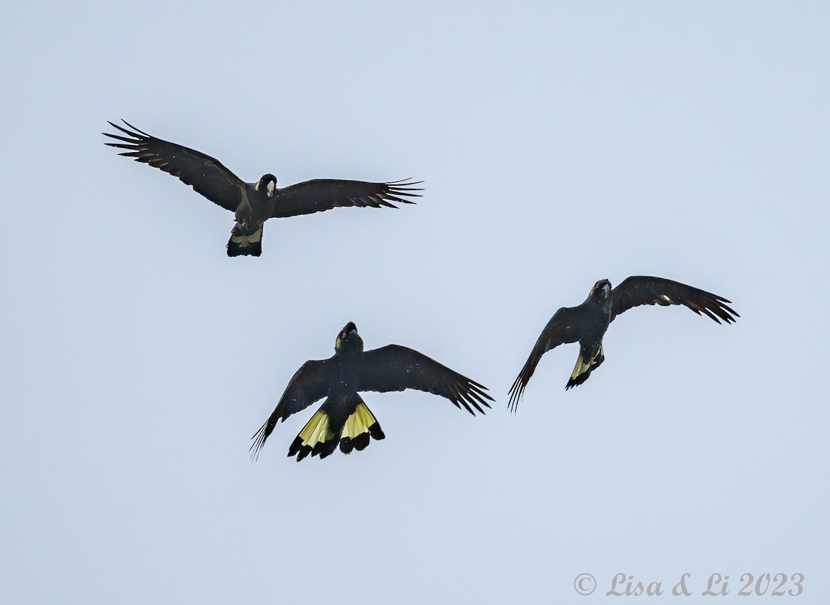
[(413, 349), (388, 344), (364, 351), (357, 327), (349, 322), (334, 342), (332, 357), (306, 361), (296, 371), (274, 412), (251, 437), (251, 457), (259, 456), (278, 420), (285, 422), (322, 398), (323, 405), (291, 443), (288, 456), (297, 456), (297, 461), (309, 454), (325, 458), (338, 444), (344, 454), (363, 450), (370, 439), (385, 435), (358, 393), (406, 388), (441, 395), (474, 416), (474, 408), (483, 414), (482, 406), (490, 407), (487, 401), (493, 400), (485, 386)]

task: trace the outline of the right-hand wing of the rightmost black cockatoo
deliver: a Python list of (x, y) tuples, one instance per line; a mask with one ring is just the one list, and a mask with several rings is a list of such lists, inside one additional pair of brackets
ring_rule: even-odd
[(639, 305), (685, 305), (697, 315), (705, 313), (719, 324), (720, 320), (729, 324), (740, 317), (735, 310), (725, 305), (730, 302), (732, 301), (706, 290), (698, 290), (677, 281), (664, 280), (662, 277), (634, 276), (628, 277), (611, 290), (611, 320)]

